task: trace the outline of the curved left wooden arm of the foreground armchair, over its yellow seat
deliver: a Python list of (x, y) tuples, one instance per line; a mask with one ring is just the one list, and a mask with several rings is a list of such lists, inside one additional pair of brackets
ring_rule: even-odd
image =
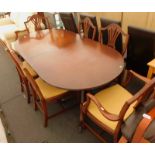
[(95, 98), (95, 96), (91, 95), (91, 94), (87, 94), (87, 97), (92, 100), (98, 110), (100, 111), (100, 113), (107, 119), (111, 120), (111, 121), (119, 121), (120, 120), (120, 117), (118, 115), (115, 115), (115, 114), (112, 114), (110, 112), (108, 112), (103, 106), (102, 104), (97, 100), (97, 98)]

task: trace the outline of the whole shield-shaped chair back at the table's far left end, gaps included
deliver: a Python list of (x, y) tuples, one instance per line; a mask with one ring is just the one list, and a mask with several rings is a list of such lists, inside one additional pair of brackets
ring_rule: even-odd
[(45, 28), (51, 29), (48, 18), (38, 14), (28, 17), (24, 24), (28, 32), (39, 31)]

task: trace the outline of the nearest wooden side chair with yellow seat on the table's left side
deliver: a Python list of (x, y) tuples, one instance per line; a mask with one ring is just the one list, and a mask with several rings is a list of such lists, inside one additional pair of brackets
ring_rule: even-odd
[(47, 127), (49, 118), (52, 118), (66, 110), (63, 108), (61, 111), (58, 111), (57, 113), (49, 115), (48, 103), (50, 102), (53, 103), (53, 101), (57, 101), (58, 99), (61, 99), (62, 97), (68, 94), (68, 91), (65, 89), (56, 88), (47, 84), (40, 77), (34, 80), (27, 69), (24, 69), (24, 71), (29, 81), (29, 84), (32, 88), (35, 110), (39, 108), (40, 111), (43, 113), (44, 126)]

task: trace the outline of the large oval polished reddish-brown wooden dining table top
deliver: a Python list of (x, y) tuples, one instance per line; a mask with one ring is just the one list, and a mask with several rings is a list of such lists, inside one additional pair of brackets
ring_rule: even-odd
[(12, 45), (44, 81), (68, 90), (105, 85), (124, 68), (115, 49), (62, 29), (34, 32)]

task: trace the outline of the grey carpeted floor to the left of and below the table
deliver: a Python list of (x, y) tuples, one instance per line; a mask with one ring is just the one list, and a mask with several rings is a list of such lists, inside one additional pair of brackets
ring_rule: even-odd
[[(73, 102), (73, 101), (72, 101)], [(59, 108), (51, 104), (50, 109)], [(17, 143), (90, 143), (99, 142), (88, 130), (79, 133), (79, 107), (49, 120), (43, 127), (40, 111), (35, 112), (33, 104), (27, 104), (20, 91), (20, 83), (15, 66), (8, 53), (0, 49), (0, 107), (3, 121), (8, 128), (9, 142)]]

